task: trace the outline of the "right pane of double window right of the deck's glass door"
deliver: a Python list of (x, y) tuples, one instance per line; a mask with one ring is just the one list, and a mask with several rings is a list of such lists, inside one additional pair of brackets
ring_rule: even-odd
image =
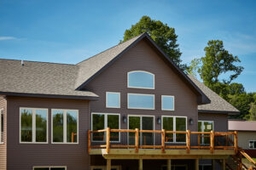
[[(186, 118), (176, 117), (176, 131), (186, 131)], [(177, 133), (176, 142), (186, 142), (186, 134)]]

